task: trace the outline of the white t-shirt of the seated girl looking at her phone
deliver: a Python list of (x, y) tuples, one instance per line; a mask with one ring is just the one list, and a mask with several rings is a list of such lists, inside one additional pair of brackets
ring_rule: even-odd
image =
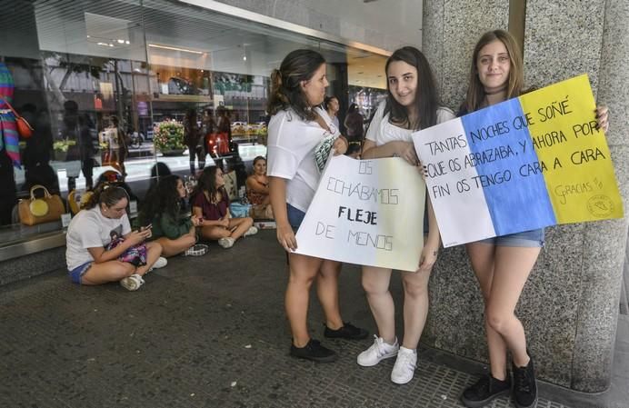
[(87, 248), (104, 248), (112, 241), (112, 234), (118, 236), (131, 232), (129, 217), (107, 218), (101, 214), (100, 206), (91, 210), (82, 210), (75, 215), (67, 228), (65, 236), (65, 263), (68, 271), (94, 261)]

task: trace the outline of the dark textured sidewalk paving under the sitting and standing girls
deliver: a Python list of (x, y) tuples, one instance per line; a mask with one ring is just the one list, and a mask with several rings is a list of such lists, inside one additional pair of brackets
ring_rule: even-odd
[[(172, 258), (135, 293), (118, 284), (79, 287), (63, 270), (2, 286), (0, 407), (462, 406), (459, 394), (482, 367), (434, 350), (420, 350), (414, 380), (404, 386), (389, 379), (393, 360), (355, 363), (373, 339), (324, 340), (340, 353), (336, 363), (289, 357), (286, 279), (285, 254), (275, 231), (265, 230), (229, 250), (212, 244), (203, 257)], [(392, 293), (399, 302), (399, 279)], [(358, 267), (344, 266), (341, 294), (344, 319), (374, 333)], [(622, 317), (605, 403), (540, 383), (538, 407), (629, 406)], [(313, 295), (315, 338), (322, 339), (322, 322)]]

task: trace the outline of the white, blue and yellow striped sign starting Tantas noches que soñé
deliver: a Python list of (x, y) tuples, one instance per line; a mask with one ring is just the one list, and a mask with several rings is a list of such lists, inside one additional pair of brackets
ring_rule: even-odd
[(444, 246), (623, 217), (587, 75), (413, 134)]

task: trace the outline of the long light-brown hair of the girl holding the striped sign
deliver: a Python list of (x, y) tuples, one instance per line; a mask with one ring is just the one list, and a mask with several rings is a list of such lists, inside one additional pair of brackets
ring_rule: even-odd
[(488, 31), (476, 43), (474, 47), (474, 53), (472, 54), (472, 65), (470, 67), (470, 80), (467, 88), (467, 96), (465, 102), (461, 106), (464, 112), (474, 112), (481, 107), (484, 101), (484, 86), (481, 84), (481, 80), (478, 78), (478, 70), (476, 63), (478, 60), (478, 54), (481, 49), (499, 40), (504, 44), (507, 53), (509, 54), (509, 61), (511, 62), (511, 68), (509, 70), (509, 81), (506, 88), (506, 98), (514, 98), (522, 94), (522, 88), (524, 87), (524, 62), (522, 60), (522, 54), (520, 47), (515, 42), (514, 36), (504, 30)]

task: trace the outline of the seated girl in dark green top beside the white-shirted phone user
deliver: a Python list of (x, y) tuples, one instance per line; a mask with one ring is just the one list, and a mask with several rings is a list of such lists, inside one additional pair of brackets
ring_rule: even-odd
[(182, 201), (186, 195), (181, 177), (170, 174), (149, 190), (143, 202), (140, 224), (153, 225), (153, 239), (162, 245), (166, 258), (182, 253), (198, 256), (208, 250), (207, 245), (196, 244), (196, 227), (201, 218), (185, 214)]

